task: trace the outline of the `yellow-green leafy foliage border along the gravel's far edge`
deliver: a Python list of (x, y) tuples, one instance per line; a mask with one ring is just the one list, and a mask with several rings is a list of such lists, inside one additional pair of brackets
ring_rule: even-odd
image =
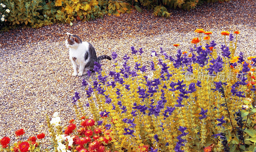
[(154, 9), (156, 16), (169, 17), (167, 8), (190, 10), (204, 2), (217, 1), (229, 0), (0, 0), (10, 10), (0, 29), (41, 27), (55, 22), (72, 25), (74, 20), (89, 21), (106, 14), (119, 16), (133, 9), (141, 11), (142, 7)]

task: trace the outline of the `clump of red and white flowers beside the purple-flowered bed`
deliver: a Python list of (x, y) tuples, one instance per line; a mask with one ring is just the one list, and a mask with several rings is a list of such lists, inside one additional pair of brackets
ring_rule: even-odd
[[(76, 97), (80, 98), (78, 93)], [(79, 99), (78, 102), (80, 102)], [(76, 112), (78, 114), (77, 108)], [(53, 114), (51, 121), (47, 116), (47, 123), (53, 141), (52, 148), (56, 152), (105, 152), (110, 149), (109, 147), (112, 141), (110, 130), (95, 125), (93, 119), (86, 119), (85, 116), (80, 117), (79, 121), (81, 121), (81, 126), (76, 128), (75, 120), (70, 120), (70, 125), (64, 128), (65, 131), (63, 134), (63, 128), (60, 126), (58, 113), (55, 112)]]

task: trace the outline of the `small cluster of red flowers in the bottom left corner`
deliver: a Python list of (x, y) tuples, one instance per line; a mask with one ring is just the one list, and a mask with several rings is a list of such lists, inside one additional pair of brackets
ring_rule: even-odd
[[(15, 135), (17, 137), (24, 135), (25, 131), (24, 129), (19, 129), (15, 131)], [(10, 138), (5, 136), (0, 140), (0, 152), (6, 151), (6, 152), (40, 152), (42, 151), (42, 142), (39, 142), (37, 140), (43, 139), (45, 137), (44, 133), (38, 134), (37, 138), (36, 136), (31, 136), (25, 141), (18, 141), (14, 142), (13, 145), (10, 145)], [(19, 138), (18, 138), (19, 139)], [(23, 139), (23, 138), (21, 138)], [(47, 149), (44, 150), (45, 152), (48, 151)]]

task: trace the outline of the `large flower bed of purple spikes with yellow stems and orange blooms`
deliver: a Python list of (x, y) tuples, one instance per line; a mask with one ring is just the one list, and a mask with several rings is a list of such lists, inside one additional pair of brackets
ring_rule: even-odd
[(234, 32), (236, 42), (233, 34), (221, 32), (225, 44), (229, 36), (229, 46), (221, 45), (219, 53), (210, 41), (212, 32), (195, 32), (199, 38), (191, 41), (194, 47), (189, 52), (178, 50), (173, 58), (160, 48), (151, 53), (150, 66), (141, 62), (143, 49), (134, 47), (133, 67), (127, 54), (118, 63), (116, 52), (112, 53), (116, 71), (107, 74), (95, 62), (97, 80), (82, 84), (94, 121), (112, 130), (113, 148), (256, 150), (256, 57), (245, 58), (243, 52), (234, 56), (239, 31)]

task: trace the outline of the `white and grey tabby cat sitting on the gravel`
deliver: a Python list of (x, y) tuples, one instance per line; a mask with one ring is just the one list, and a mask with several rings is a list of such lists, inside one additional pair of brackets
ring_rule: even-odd
[[(66, 47), (69, 49), (69, 59), (72, 62), (74, 73), (72, 76), (82, 76), (89, 70), (93, 71), (94, 62), (100, 62), (102, 59), (111, 60), (108, 55), (101, 55), (97, 58), (96, 52), (92, 44), (89, 42), (83, 42), (77, 35), (68, 33), (66, 39)], [(77, 73), (77, 68), (79, 73)]]

